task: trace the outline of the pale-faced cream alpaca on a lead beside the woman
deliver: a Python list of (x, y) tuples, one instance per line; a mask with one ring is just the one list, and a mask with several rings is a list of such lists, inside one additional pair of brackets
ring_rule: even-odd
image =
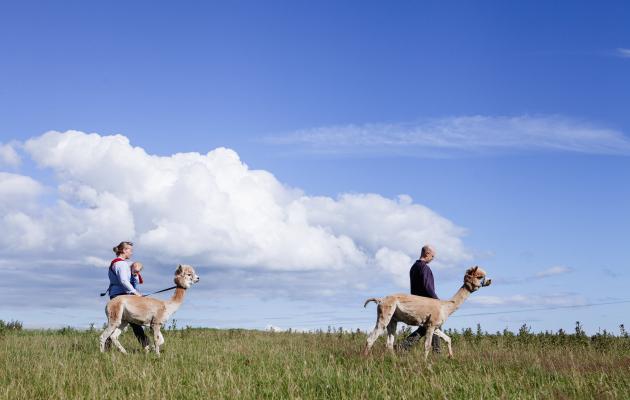
[(177, 285), (175, 294), (167, 301), (140, 296), (118, 296), (111, 299), (105, 306), (107, 328), (100, 336), (101, 352), (105, 351), (107, 338), (111, 338), (118, 350), (126, 354), (127, 351), (118, 341), (118, 336), (132, 322), (151, 327), (155, 352), (159, 355), (160, 346), (164, 344), (160, 327), (182, 305), (186, 289), (199, 282), (199, 277), (190, 265), (180, 265), (175, 271), (174, 281)]

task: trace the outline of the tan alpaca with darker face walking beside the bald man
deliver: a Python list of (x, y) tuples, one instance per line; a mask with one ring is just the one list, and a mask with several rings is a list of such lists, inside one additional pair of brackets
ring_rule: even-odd
[(486, 280), (486, 272), (479, 267), (472, 267), (464, 275), (464, 284), (450, 300), (437, 300), (429, 297), (414, 296), (412, 294), (393, 294), (383, 298), (371, 298), (366, 300), (364, 307), (370, 301), (378, 304), (376, 327), (367, 337), (364, 354), (370, 349), (387, 329), (387, 348), (394, 350), (396, 325), (404, 322), (407, 325), (423, 325), (427, 328), (424, 342), (424, 358), (426, 360), (431, 347), (433, 334), (438, 335), (448, 345), (448, 356), (453, 356), (451, 338), (446, 336), (439, 328), (459, 306), (480, 287), (488, 286), (491, 279)]

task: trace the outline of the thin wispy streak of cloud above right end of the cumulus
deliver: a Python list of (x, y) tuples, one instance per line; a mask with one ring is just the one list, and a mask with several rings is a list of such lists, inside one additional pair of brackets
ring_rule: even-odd
[(419, 157), (535, 150), (630, 154), (630, 138), (622, 132), (560, 116), (475, 115), (410, 124), (330, 126), (270, 137), (268, 142), (317, 152), (394, 152)]

